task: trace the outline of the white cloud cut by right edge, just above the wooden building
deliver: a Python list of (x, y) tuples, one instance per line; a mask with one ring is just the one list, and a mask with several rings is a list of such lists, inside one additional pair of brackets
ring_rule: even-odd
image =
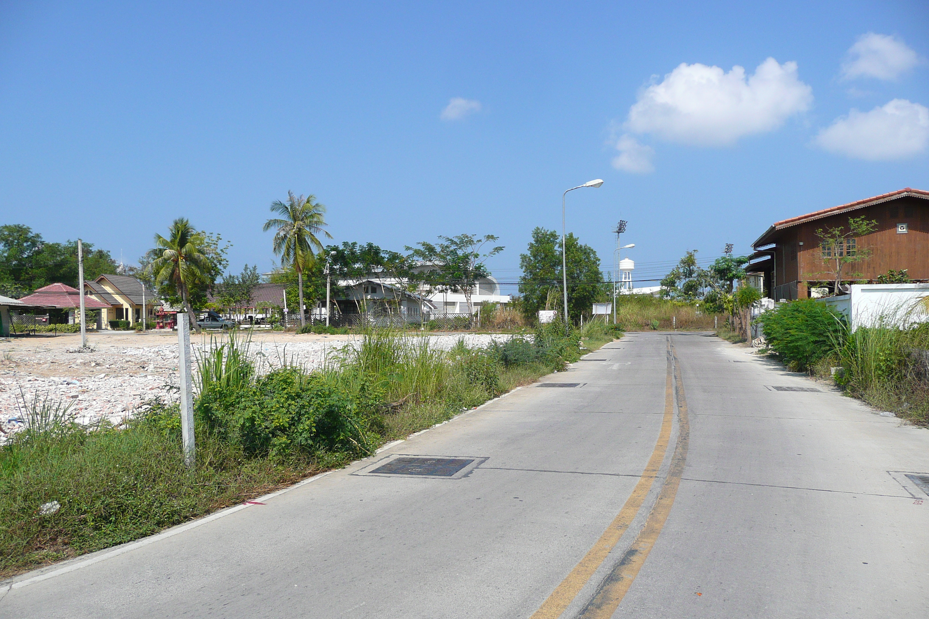
[(867, 112), (853, 109), (820, 131), (814, 143), (867, 161), (913, 157), (929, 146), (929, 109), (906, 99)]

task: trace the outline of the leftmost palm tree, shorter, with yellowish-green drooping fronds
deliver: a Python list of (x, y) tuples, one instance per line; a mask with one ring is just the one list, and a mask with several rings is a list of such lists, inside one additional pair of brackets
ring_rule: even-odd
[(200, 332), (200, 326), (190, 307), (190, 285), (206, 277), (209, 262), (203, 254), (197, 231), (190, 222), (178, 217), (168, 228), (168, 238), (155, 235), (155, 249), (149, 252), (153, 258), (147, 271), (154, 275), (155, 284), (170, 282), (180, 295), (190, 326)]

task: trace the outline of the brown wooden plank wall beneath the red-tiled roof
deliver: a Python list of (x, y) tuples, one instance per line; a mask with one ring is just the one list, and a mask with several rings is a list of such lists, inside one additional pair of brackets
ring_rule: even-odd
[[(824, 273), (828, 267), (823, 263), (816, 231), (835, 226), (847, 230), (848, 218), (862, 215), (878, 224), (875, 232), (857, 241), (859, 251), (870, 248), (871, 257), (845, 265), (848, 276), (844, 279), (852, 279), (852, 273), (861, 274), (854, 278), (877, 279), (889, 269), (909, 269), (911, 279), (929, 279), (929, 200), (904, 197), (785, 228), (775, 248), (776, 285), (830, 279)], [(896, 234), (899, 223), (909, 224), (909, 233)]]

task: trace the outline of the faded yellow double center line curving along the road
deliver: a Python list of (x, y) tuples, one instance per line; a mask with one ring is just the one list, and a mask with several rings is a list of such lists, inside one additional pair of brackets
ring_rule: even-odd
[(674, 392), (677, 393), (677, 409), (679, 419), (679, 432), (674, 454), (671, 459), (671, 468), (668, 477), (661, 486), (658, 500), (648, 514), (645, 526), (635, 537), (632, 546), (623, 555), (622, 560), (610, 571), (607, 577), (597, 587), (594, 598), (584, 606), (580, 616), (587, 619), (601, 619), (611, 616), (620, 605), (626, 591), (632, 586), (635, 576), (648, 558), (648, 552), (655, 546), (658, 535), (664, 522), (668, 519), (671, 507), (674, 505), (674, 496), (684, 474), (684, 464), (687, 460), (687, 445), (690, 438), (690, 425), (687, 420), (687, 400), (684, 398), (684, 385), (681, 382), (680, 368), (677, 367), (674, 356), (674, 345), (667, 339), (667, 376), (664, 386), (664, 417), (661, 419), (661, 431), (655, 449), (648, 458), (648, 464), (639, 478), (632, 494), (626, 499), (620, 513), (613, 522), (609, 523), (607, 530), (600, 535), (594, 546), (587, 551), (583, 559), (574, 566), (570, 574), (561, 581), (552, 595), (543, 602), (538, 611), (532, 614), (531, 619), (557, 619), (565, 612), (569, 604), (597, 568), (607, 559), (609, 552), (616, 546), (622, 535), (635, 519), (639, 509), (645, 503), (648, 491), (658, 476), (661, 462), (668, 449), (671, 439), (671, 429), (674, 425)]

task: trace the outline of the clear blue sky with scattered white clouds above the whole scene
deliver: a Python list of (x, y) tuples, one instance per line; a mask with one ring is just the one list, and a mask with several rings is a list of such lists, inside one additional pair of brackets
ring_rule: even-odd
[(561, 192), (603, 178), (569, 231), (607, 269), (622, 215), (636, 278), (660, 275), (929, 189), (927, 28), (886, 0), (3, 2), (0, 219), (130, 262), (186, 216), (268, 270), (291, 189), (339, 242), (496, 234), (515, 280)]

